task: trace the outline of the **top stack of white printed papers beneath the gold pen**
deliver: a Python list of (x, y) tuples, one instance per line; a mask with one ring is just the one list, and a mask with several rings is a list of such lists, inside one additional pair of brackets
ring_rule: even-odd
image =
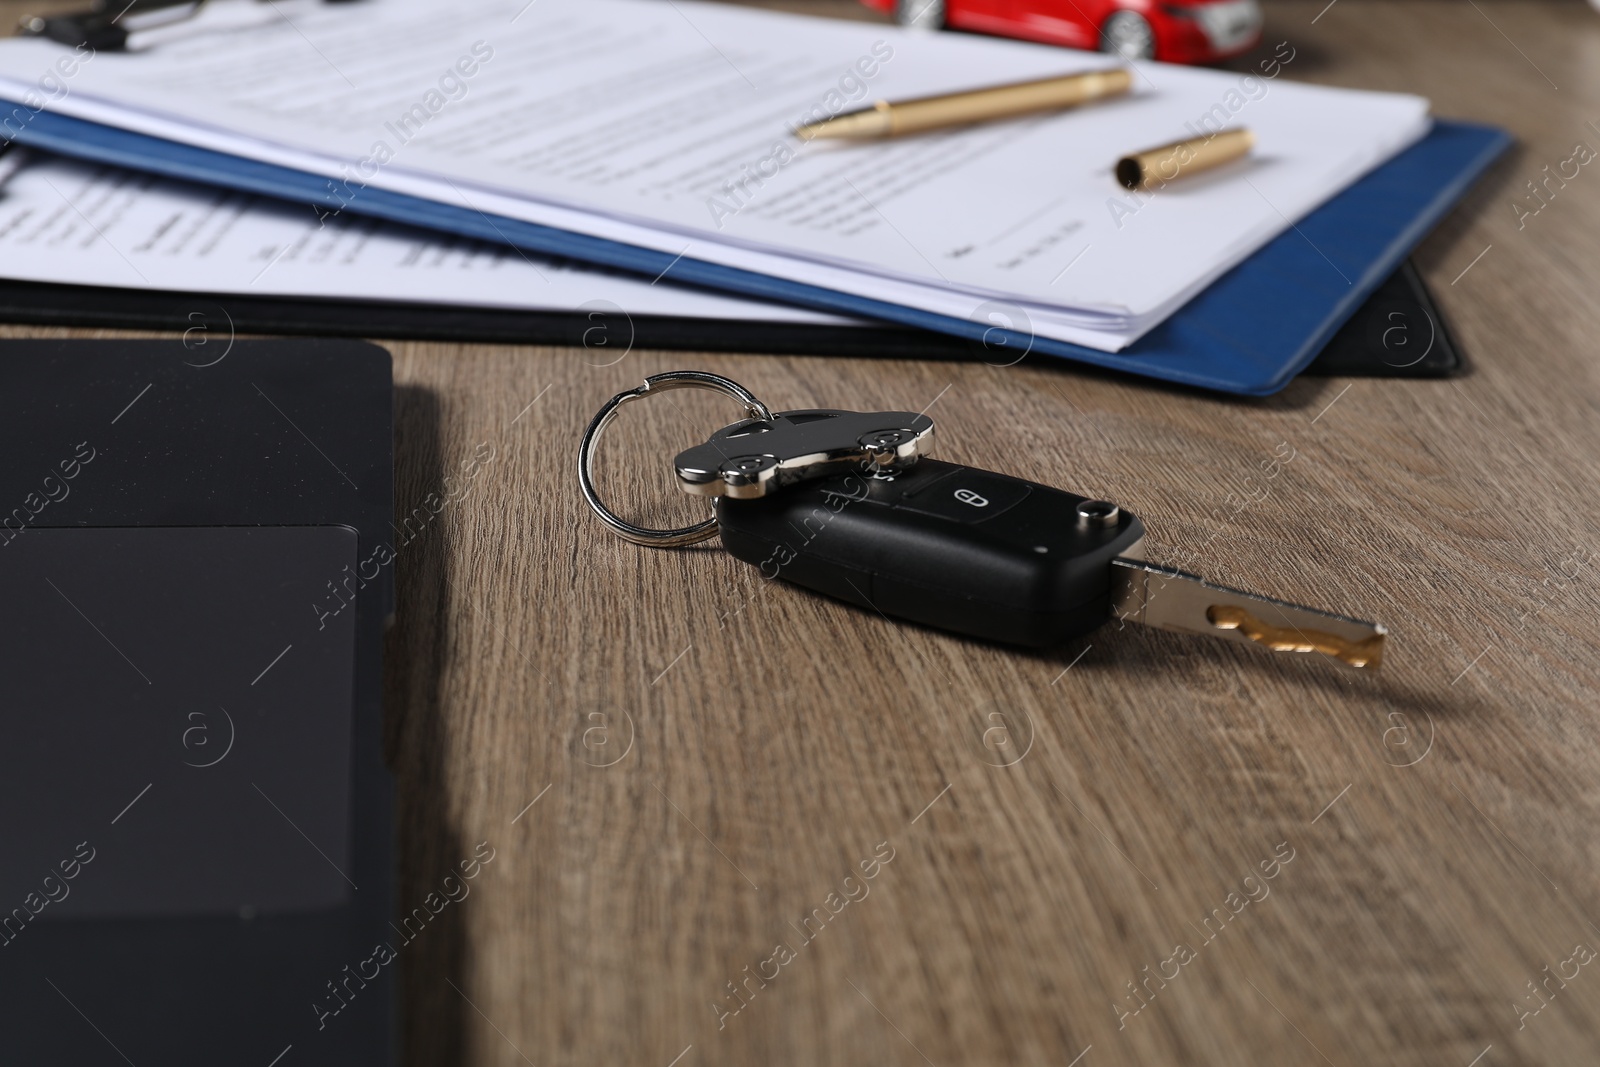
[[(219, 5), (245, 0), (219, 0)], [(870, 102), (1104, 56), (691, 0), (282, 0), (142, 54), (0, 43), (0, 94), (363, 187), (1117, 350), (1427, 130), (1427, 102), (1139, 64), (1128, 98), (893, 142), (800, 144)], [(1258, 88), (1259, 86), (1259, 91)], [(1210, 118), (1208, 118), (1210, 117)], [(1134, 149), (1248, 126), (1253, 158), (1134, 197)], [(0, 123), (3, 126), (3, 123)], [(1333, 269), (1333, 267), (1330, 267)]]

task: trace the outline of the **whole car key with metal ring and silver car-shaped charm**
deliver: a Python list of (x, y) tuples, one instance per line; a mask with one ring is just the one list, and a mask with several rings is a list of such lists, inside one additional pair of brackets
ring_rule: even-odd
[[(622, 403), (690, 386), (730, 394), (750, 416), (674, 462), (680, 488), (715, 498), (715, 518), (662, 531), (626, 523), (594, 490), (600, 432)], [(1147, 563), (1144, 525), (1130, 512), (926, 459), (931, 442), (926, 414), (773, 414), (736, 382), (674, 371), (602, 408), (584, 434), (578, 474), (594, 510), (630, 541), (677, 545), (720, 533), (766, 577), (955, 633), (1042, 648), (1117, 617), (1323, 653), (1352, 667), (1382, 662), (1381, 625)]]

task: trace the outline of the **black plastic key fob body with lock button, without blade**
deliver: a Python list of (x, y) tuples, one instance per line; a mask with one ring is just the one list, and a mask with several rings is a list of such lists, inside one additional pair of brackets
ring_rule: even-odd
[(926, 458), (715, 506), (723, 545), (763, 577), (1035, 648), (1112, 616), (1110, 563), (1144, 537), (1114, 504)]

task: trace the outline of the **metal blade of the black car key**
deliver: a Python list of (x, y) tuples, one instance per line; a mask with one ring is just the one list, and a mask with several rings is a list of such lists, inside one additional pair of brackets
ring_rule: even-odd
[(1142, 560), (1112, 560), (1112, 613), (1162, 630), (1250, 641), (1277, 653), (1323, 653), (1350, 667), (1376, 670), (1384, 661), (1387, 630), (1376, 622), (1213, 585)]

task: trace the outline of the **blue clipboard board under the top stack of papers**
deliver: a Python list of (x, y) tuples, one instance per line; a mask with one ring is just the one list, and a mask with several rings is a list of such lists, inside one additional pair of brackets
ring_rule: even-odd
[(1494, 126), (1435, 122), (1419, 142), (1264, 245), (1133, 346), (1101, 352), (384, 189), (366, 187), (355, 198), (341, 200), (331, 182), (317, 174), (67, 115), (38, 112), (14, 139), (62, 155), (426, 226), (650, 277), (670, 274), (685, 285), (955, 334), (990, 349), (1032, 350), (1256, 397), (1283, 389), (1304, 370), (1510, 146), (1510, 136)]

